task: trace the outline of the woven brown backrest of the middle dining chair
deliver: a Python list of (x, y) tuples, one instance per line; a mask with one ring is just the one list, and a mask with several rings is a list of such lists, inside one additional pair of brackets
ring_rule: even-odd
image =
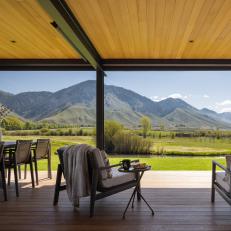
[(31, 157), (32, 140), (17, 140), (15, 157), (17, 164), (28, 163)]

